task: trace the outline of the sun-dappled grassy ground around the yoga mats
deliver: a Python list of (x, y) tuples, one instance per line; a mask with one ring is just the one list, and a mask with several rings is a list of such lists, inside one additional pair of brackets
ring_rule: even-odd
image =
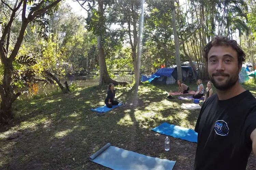
[[(189, 87), (197, 88), (196, 84)], [(255, 86), (244, 87), (256, 96)], [(129, 87), (116, 88), (116, 99), (127, 104), (101, 117), (90, 109), (104, 105), (105, 86), (15, 101), (13, 125), (1, 127), (0, 169), (108, 169), (88, 159), (108, 142), (176, 160), (174, 169), (192, 169), (196, 143), (169, 137), (170, 151), (166, 152), (166, 136), (151, 130), (163, 122), (195, 127), (199, 109), (181, 109), (182, 103), (193, 101), (180, 101), (177, 96), (167, 99), (169, 91), (177, 91), (177, 85), (143, 84), (138, 93)], [(251, 154), (247, 169), (255, 168)]]

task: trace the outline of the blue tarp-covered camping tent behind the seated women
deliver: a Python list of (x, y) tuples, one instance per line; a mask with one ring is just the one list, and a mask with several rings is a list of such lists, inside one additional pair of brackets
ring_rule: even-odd
[[(183, 81), (188, 78), (193, 79), (193, 72), (189, 66), (181, 66)], [(196, 75), (197, 76), (197, 75)], [(177, 80), (177, 67), (175, 68), (160, 68), (151, 76), (142, 75), (141, 81), (149, 81), (156, 84), (174, 84)]]

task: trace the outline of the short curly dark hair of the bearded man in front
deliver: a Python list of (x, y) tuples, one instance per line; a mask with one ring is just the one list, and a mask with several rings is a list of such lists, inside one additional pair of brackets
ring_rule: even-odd
[(208, 63), (208, 53), (210, 51), (210, 49), (213, 46), (227, 46), (227, 47), (231, 47), (234, 50), (237, 51), (237, 58), (238, 58), (238, 66), (241, 66), (243, 64), (243, 62), (245, 61), (245, 53), (244, 51), (240, 48), (240, 45), (237, 44), (236, 40), (231, 40), (229, 37), (227, 36), (223, 36), (223, 35), (216, 35), (212, 41), (210, 41), (207, 45), (205, 45), (205, 47), (203, 48), (203, 57), (205, 58), (206, 62)]

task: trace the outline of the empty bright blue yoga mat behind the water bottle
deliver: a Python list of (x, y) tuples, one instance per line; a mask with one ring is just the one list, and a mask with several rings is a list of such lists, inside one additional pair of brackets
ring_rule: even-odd
[(197, 142), (197, 133), (193, 129), (163, 123), (151, 130), (154, 130), (160, 134), (172, 136), (174, 138), (180, 138), (190, 142)]

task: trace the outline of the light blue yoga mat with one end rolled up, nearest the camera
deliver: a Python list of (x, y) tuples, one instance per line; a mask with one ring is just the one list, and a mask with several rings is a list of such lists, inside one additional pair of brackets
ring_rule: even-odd
[(111, 146), (110, 143), (91, 155), (89, 160), (114, 170), (171, 170), (176, 163), (176, 161), (154, 158), (120, 149)]

